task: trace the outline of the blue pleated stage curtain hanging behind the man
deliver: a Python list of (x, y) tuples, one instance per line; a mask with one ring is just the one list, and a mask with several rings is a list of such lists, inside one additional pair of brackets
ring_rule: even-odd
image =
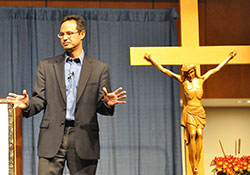
[[(0, 97), (23, 89), (31, 94), (39, 61), (63, 52), (56, 34), (69, 14), (85, 18), (84, 50), (110, 65), (112, 88), (121, 86), (128, 96), (114, 117), (99, 117), (98, 174), (181, 175), (179, 83), (154, 66), (131, 67), (129, 58), (131, 46), (177, 45), (173, 8), (0, 7)], [(167, 67), (179, 72), (178, 66)], [(37, 174), (41, 116), (23, 119), (24, 175)]]

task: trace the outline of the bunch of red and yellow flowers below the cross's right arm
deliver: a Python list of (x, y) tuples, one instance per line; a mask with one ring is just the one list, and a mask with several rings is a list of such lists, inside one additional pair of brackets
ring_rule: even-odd
[(210, 166), (215, 166), (212, 172), (217, 175), (250, 175), (250, 156), (215, 157)]

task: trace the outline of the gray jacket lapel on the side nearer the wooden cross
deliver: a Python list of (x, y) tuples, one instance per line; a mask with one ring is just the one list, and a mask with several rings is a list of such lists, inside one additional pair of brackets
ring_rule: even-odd
[(77, 89), (77, 97), (76, 97), (76, 104), (79, 101), (85, 87), (86, 84), (88, 82), (88, 79), (90, 77), (90, 73), (92, 70), (92, 64), (91, 64), (91, 59), (89, 56), (85, 56), (84, 60), (83, 60), (83, 64), (82, 64), (82, 70), (81, 70), (81, 75), (80, 75), (80, 80), (79, 80), (79, 84), (78, 84), (78, 89)]

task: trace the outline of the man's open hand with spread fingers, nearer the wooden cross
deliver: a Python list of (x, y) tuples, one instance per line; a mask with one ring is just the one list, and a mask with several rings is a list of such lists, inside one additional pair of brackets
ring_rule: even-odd
[(126, 101), (120, 101), (121, 99), (126, 98), (127, 96), (126, 91), (122, 91), (122, 88), (116, 89), (114, 92), (108, 93), (107, 89), (104, 87), (102, 88), (103, 90), (103, 95), (104, 95), (104, 101), (106, 102), (107, 105), (109, 106), (114, 106), (116, 104), (120, 103), (126, 103)]

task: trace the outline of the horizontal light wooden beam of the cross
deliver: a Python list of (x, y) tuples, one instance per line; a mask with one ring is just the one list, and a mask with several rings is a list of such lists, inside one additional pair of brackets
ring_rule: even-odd
[(151, 54), (162, 65), (219, 64), (231, 51), (237, 51), (229, 64), (250, 64), (250, 46), (199, 46), (199, 47), (130, 47), (130, 65), (151, 65), (143, 57)]

